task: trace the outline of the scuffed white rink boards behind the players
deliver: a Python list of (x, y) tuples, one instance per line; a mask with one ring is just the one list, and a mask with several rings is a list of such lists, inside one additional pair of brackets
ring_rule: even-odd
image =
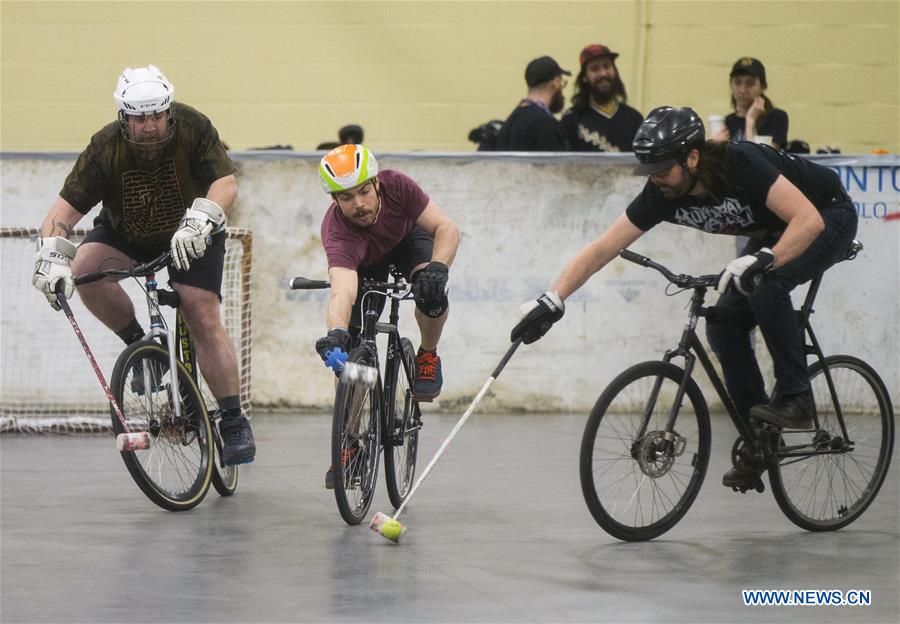
[[(254, 405), (327, 406), (332, 374), (313, 348), (325, 329), (327, 294), (286, 290), (297, 275), (326, 277), (319, 225), (329, 198), (317, 177), (319, 155), (232, 156), (240, 195), (229, 224), (250, 229), (254, 237)], [(37, 227), (74, 158), (3, 154), (2, 225)], [(379, 162), (413, 177), (462, 232), (450, 271), (451, 316), (439, 350), (445, 390), (438, 406), (454, 411), (474, 397), (507, 348), (518, 305), (549, 286), (567, 259), (621, 214), (643, 184), (630, 175), (629, 155), (381, 154)], [(850, 353), (872, 363), (896, 404), (900, 222), (883, 217), (898, 210), (900, 159), (842, 157), (826, 163), (841, 173), (859, 202), (858, 238), (866, 248), (857, 260), (828, 273), (814, 327), (827, 353)], [(89, 227), (90, 218), (80, 225)], [(713, 273), (734, 256), (735, 241), (663, 224), (633, 249), (676, 272)], [(28, 290), (30, 262), (21, 266), (26, 274), (4, 277), (2, 314), (12, 293), (9, 284), (28, 293), (35, 307), (46, 306)], [(567, 302), (565, 318), (542, 341), (520, 349), (481, 409), (589, 410), (623, 368), (658, 358), (677, 342), (688, 297), (667, 297), (665, 284), (649, 269), (613, 262)], [(401, 327), (417, 344), (411, 305)], [(39, 325), (46, 321), (38, 319), (48, 317), (35, 318), (25, 330), (4, 322), (3, 342), (11, 331), (33, 332), (39, 340)], [(68, 330), (61, 315), (49, 318)], [(77, 362), (82, 364), (87, 366)], [(706, 386), (705, 375), (698, 378)]]

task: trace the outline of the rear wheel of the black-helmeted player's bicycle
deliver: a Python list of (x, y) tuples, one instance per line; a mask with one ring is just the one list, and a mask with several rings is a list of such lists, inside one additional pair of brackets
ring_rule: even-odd
[[(825, 367), (834, 380), (849, 444)], [(863, 514), (884, 482), (894, 448), (894, 412), (884, 382), (858, 358), (827, 357), (810, 366), (809, 375), (819, 427), (813, 439), (808, 431), (790, 430), (782, 439), (787, 446), (806, 445), (812, 452), (777, 457), (769, 481), (791, 522), (807, 531), (836, 531)]]

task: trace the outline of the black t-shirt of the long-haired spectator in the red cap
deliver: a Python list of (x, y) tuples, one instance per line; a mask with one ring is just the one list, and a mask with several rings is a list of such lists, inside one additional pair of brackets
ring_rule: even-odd
[(570, 108), (560, 123), (572, 151), (630, 152), (643, 121), (635, 109), (619, 104), (611, 116), (591, 106), (580, 112)]

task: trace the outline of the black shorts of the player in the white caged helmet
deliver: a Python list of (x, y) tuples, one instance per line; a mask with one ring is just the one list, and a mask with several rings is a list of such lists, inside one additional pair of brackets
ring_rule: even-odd
[[(120, 234), (113, 230), (107, 223), (94, 221), (94, 229), (89, 231), (81, 242), (101, 243), (109, 245), (117, 251), (134, 260), (135, 262), (149, 262), (169, 250), (168, 245), (158, 247), (136, 247), (128, 243)], [(222, 273), (225, 266), (225, 232), (213, 234), (212, 244), (206, 248), (202, 258), (191, 260), (191, 268), (187, 271), (179, 271), (169, 266), (169, 281), (178, 284), (194, 286), (215, 293), (222, 299)]]

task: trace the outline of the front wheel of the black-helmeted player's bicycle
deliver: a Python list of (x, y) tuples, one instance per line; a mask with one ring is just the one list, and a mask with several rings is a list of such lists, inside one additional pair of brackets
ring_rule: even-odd
[[(588, 418), (581, 442), (581, 490), (597, 524), (620, 540), (649, 540), (671, 529), (703, 484), (709, 412), (693, 379), (675, 422), (678, 442), (673, 447), (659, 435), (683, 377), (681, 368), (665, 362), (632, 366), (607, 386)], [(657, 380), (658, 398), (638, 437)]]

